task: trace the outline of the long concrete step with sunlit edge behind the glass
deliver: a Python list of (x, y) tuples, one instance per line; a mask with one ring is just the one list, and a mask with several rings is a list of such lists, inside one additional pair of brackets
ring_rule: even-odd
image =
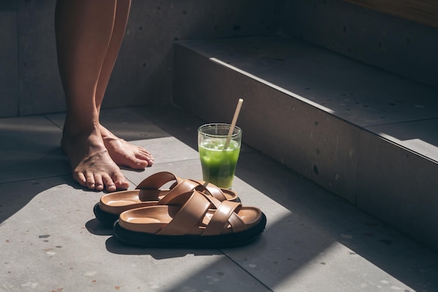
[(438, 90), (297, 39), (178, 41), (174, 102), (438, 250)]

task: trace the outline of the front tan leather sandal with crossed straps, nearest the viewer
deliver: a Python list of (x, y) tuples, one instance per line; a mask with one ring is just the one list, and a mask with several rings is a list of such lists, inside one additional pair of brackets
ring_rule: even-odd
[(193, 190), (122, 212), (113, 233), (122, 242), (141, 246), (220, 248), (248, 244), (265, 226), (260, 209)]

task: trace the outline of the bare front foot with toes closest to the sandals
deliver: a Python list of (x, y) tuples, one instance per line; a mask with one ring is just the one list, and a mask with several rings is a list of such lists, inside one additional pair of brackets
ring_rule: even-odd
[(111, 159), (99, 130), (85, 134), (64, 133), (61, 146), (73, 169), (73, 179), (90, 190), (126, 190), (129, 183)]

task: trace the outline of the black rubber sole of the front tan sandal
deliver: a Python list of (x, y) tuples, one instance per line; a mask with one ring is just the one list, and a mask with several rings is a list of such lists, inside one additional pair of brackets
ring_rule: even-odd
[(262, 213), (260, 222), (249, 228), (236, 233), (225, 235), (155, 235), (145, 232), (135, 232), (122, 228), (118, 221), (114, 223), (113, 235), (125, 244), (145, 247), (160, 248), (195, 248), (195, 249), (219, 249), (226, 247), (242, 246), (253, 242), (260, 237), (266, 227), (266, 216)]

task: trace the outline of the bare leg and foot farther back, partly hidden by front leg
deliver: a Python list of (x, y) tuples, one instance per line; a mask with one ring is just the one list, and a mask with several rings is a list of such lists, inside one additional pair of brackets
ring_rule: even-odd
[[(101, 67), (99, 80), (96, 89), (96, 107), (100, 111), (102, 100), (104, 99), (106, 87), (111, 77), (111, 72), (117, 59), (120, 45), (125, 34), (125, 29), (129, 16), (131, 0), (118, 0), (115, 11), (115, 21), (113, 33), (108, 45), (108, 50)], [(104, 126), (100, 126), (101, 136), (111, 158), (117, 165), (127, 166), (133, 169), (144, 169), (153, 164), (152, 155), (145, 148), (135, 146), (123, 139), (119, 139)]]

